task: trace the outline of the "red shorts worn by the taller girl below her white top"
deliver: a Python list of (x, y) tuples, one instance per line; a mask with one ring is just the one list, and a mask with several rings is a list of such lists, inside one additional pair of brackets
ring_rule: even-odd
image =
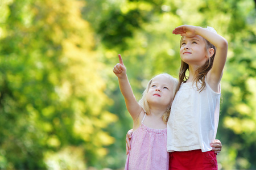
[(169, 152), (169, 170), (174, 169), (218, 170), (216, 154), (214, 151), (201, 150)]

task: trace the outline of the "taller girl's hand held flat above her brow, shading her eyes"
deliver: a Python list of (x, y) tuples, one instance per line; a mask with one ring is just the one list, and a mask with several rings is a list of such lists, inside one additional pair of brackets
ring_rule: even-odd
[(192, 25), (181, 25), (176, 27), (172, 33), (175, 35), (180, 34), (180, 36), (193, 37), (196, 36), (195, 29), (196, 27)]

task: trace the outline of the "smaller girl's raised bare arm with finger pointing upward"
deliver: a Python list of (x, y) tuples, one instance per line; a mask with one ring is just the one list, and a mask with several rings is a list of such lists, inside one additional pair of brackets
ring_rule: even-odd
[(119, 63), (117, 63), (117, 65), (114, 66), (113, 72), (118, 77), (119, 88), (123, 97), (125, 98), (126, 108), (128, 112), (131, 114), (133, 120), (136, 120), (139, 116), (139, 113), (141, 113), (142, 108), (138, 104), (133, 94), (133, 90), (131, 89), (131, 85), (126, 74), (126, 67), (125, 65), (123, 65), (122, 57), (120, 54), (118, 54), (118, 57)]

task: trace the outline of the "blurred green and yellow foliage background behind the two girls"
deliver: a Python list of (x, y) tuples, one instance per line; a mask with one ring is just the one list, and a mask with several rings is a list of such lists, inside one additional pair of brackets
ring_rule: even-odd
[(0, 169), (122, 169), (117, 55), (139, 99), (153, 75), (177, 77), (181, 24), (228, 40), (218, 167), (256, 169), (254, 1), (1, 0), (0, 14)]

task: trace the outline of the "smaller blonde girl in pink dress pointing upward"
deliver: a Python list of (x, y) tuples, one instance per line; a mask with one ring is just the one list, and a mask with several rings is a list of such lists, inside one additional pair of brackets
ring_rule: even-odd
[(121, 55), (118, 57), (119, 63), (114, 66), (113, 72), (118, 77), (134, 129), (125, 169), (168, 169), (167, 121), (177, 79), (166, 73), (154, 76), (148, 82), (142, 99), (137, 102)]

